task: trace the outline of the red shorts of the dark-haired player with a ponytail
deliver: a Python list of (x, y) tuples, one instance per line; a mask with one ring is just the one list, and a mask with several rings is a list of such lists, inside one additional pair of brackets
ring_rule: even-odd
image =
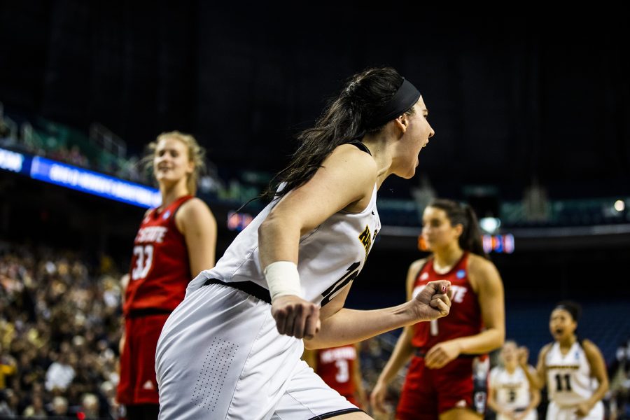
[(396, 419), (437, 419), (453, 408), (470, 408), (484, 414), (488, 359), (459, 357), (441, 369), (428, 369), (424, 358), (414, 356), (402, 386)]

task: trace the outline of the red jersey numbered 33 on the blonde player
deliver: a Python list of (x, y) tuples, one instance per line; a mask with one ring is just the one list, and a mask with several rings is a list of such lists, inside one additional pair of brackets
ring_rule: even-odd
[(125, 316), (139, 309), (172, 311), (183, 300), (191, 280), (186, 238), (175, 225), (175, 214), (192, 195), (151, 209), (134, 240), (130, 279), (125, 293)]

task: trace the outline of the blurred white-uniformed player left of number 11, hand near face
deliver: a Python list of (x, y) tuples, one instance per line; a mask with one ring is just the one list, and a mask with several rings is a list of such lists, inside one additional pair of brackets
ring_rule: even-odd
[[(516, 342), (505, 342), (500, 352), (501, 364), (490, 371), (488, 405), (496, 412), (497, 420), (538, 419), (540, 391), (529, 386), (519, 366), (517, 350)], [(526, 365), (526, 369), (531, 371), (533, 366)]]

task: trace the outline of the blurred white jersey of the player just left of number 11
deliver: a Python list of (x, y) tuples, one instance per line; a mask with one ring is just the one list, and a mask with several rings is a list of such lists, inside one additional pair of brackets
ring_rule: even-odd
[(529, 381), (520, 366), (512, 373), (503, 366), (493, 367), (490, 386), (496, 393), (496, 402), (504, 409), (525, 409), (529, 405)]

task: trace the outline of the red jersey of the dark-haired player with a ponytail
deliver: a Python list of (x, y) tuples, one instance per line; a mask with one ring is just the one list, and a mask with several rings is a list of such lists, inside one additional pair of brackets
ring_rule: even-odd
[(412, 345), (426, 353), (435, 344), (468, 335), (479, 334), (483, 328), (477, 293), (468, 281), (468, 252), (444, 274), (433, 268), (433, 258), (429, 258), (416, 276), (412, 295), (415, 297), (429, 281), (449, 280), (451, 282), (451, 311), (448, 316), (430, 322), (414, 325)]

